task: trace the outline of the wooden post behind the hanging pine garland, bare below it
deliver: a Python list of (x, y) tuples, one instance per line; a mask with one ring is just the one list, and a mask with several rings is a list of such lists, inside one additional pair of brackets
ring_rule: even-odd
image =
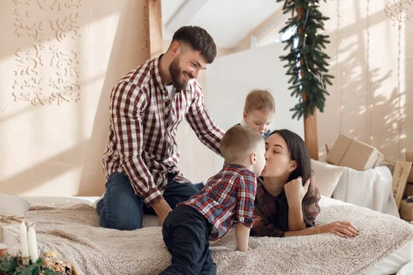
[[(297, 9), (297, 19), (301, 19), (303, 14), (303, 8)], [(302, 33), (302, 28), (298, 29), (299, 33)], [(304, 65), (303, 58), (300, 59), (301, 66)], [(304, 78), (304, 72), (301, 71), (301, 78)], [(306, 91), (303, 92), (303, 100), (306, 101)], [(310, 152), (310, 157), (312, 159), (318, 160), (318, 134), (317, 134), (317, 108), (314, 110), (314, 114), (311, 115), (310, 109), (306, 110), (308, 113), (307, 118), (304, 118), (304, 140)]]

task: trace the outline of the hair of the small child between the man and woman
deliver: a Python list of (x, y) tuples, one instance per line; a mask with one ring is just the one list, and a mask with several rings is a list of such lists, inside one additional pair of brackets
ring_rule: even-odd
[(275, 113), (275, 101), (267, 90), (253, 90), (245, 98), (244, 111), (270, 111)]

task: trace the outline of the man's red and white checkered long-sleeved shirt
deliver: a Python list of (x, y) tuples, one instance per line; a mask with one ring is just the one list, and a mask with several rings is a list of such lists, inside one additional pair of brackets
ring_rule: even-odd
[(174, 180), (181, 184), (189, 182), (177, 166), (180, 151), (175, 137), (182, 119), (203, 144), (220, 155), (224, 135), (209, 116), (195, 79), (169, 99), (160, 78), (160, 58), (150, 59), (114, 86), (109, 143), (103, 156), (105, 177), (125, 173), (148, 207), (162, 199), (168, 173), (176, 174)]

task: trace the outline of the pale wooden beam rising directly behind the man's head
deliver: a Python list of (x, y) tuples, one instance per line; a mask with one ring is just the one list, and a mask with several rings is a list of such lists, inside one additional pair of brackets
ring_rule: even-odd
[(162, 14), (160, 0), (145, 1), (148, 9), (149, 54), (153, 58), (163, 53)]

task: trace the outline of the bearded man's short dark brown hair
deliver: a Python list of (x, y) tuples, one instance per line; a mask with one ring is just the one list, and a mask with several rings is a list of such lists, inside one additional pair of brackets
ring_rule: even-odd
[[(178, 41), (189, 45), (192, 50), (200, 52), (207, 63), (213, 63), (217, 56), (217, 47), (209, 33), (197, 26), (184, 26), (179, 28), (172, 37), (172, 42)], [(170, 47), (170, 46), (169, 46)]]

